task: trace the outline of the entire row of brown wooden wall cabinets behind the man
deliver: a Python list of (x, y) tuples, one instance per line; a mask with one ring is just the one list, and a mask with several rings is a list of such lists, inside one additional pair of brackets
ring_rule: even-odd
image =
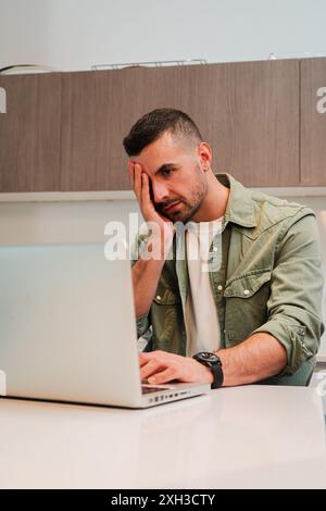
[(313, 59), (0, 76), (0, 191), (130, 189), (123, 138), (162, 107), (187, 112), (213, 170), (246, 186), (325, 185), (325, 75)]

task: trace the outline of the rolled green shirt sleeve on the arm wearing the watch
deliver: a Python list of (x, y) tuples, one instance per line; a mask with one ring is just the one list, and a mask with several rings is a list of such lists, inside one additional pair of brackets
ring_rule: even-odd
[(304, 209), (280, 230), (267, 301), (268, 321), (252, 332), (268, 333), (285, 347), (287, 366), (281, 374), (293, 374), (316, 354), (324, 332), (322, 294), (317, 223), (314, 213)]

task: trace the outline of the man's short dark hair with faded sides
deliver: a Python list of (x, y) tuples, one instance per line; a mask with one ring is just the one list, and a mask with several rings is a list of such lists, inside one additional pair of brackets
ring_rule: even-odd
[(203, 141), (195, 122), (180, 110), (156, 109), (146, 113), (131, 127), (124, 138), (124, 148), (129, 157), (140, 154), (149, 144), (160, 138), (165, 132), (171, 132), (176, 138)]

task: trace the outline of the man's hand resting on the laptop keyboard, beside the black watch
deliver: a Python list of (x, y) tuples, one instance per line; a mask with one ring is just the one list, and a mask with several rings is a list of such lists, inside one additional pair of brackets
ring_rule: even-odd
[(173, 379), (212, 384), (214, 379), (211, 370), (197, 360), (167, 351), (140, 353), (139, 364), (141, 381), (150, 384), (165, 384)]

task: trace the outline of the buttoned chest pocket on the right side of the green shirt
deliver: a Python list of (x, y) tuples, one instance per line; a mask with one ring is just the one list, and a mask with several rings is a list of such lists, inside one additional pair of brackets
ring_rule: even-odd
[(271, 269), (251, 271), (233, 279), (224, 289), (225, 344), (235, 346), (267, 321)]

